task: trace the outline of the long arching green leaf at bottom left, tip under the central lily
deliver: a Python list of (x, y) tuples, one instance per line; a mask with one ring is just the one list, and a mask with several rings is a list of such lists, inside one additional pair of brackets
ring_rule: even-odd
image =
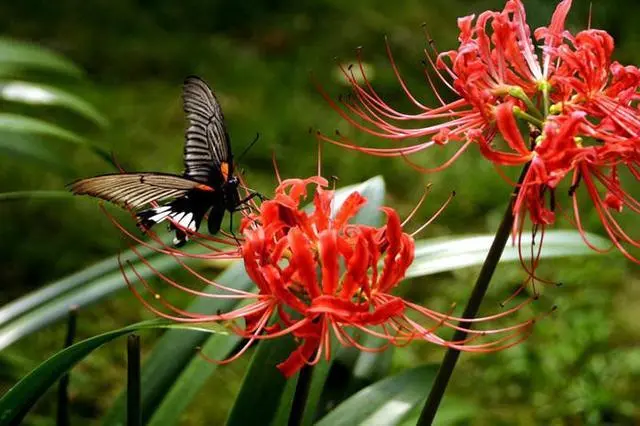
[[(191, 325), (176, 324), (164, 320), (145, 321), (119, 330), (110, 331), (72, 345), (45, 362), (20, 380), (0, 399), (0, 425), (17, 424), (42, 394), (64, 373), (103, 344), (133, 331), (148, 328), (193, 329)], [(205, 327), (195, 327), (199, 332)], [(207, 326), (210, 333), (226, 333), (224, 329)]]

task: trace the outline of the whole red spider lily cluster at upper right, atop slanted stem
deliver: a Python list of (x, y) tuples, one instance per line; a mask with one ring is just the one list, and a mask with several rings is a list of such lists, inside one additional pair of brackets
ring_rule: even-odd
[[(349, 139), (321, 139), (377, 156), (400, 156), (422, 172), (442, 170), (470, 146), (479, 148), (504, 176), (502, 166), (528, 165), (513, 204), (514, 234), (521, 233), (528, 214), (535, 229), (554, 223), (559, 208), (556, 191), (566, 181), (573, 205), (570, 219), (586, 238), (578, 210), (582, 187), (593, 203), (613, 246), (640, 247), (616, 215), (623, 209), (640, 213), (640, 201), (623, 182), (640, 180), (640, 69), (612, 60), (613, 38), (588, 29), (565, 29), (571, 0), (560, 2), (548, 27), (533, 33), (520, 0), (509, 0), (500, 12), (460, 18), (460, 46), (438, 53), (425, 50), (432, 72), (454, 94), (445, 101), (425, 72), (439, 106), (423, 105), (407, 89), (387, 46), (393, 70), (409, 101), (418, 109), (406, 114), (389, 106), (373, 89), (362, 62), (343, 72), (353, 95), (336, 103), (325, 97), (352, 125), (389, 139), (396, 146), (370, 148)], [(408, 128), (407, 123), (417, 123)], [(528, 138), (521, 127), (529, 129)], [(496, 136), (501, 135), (504, 146)], [(415, 144), (408, 139), (425, 139)], [(459, 144), (440, 167), (427, 169), (408, 156), (433, 145)], [(621, 174), (624, 178), (621, 179)]]

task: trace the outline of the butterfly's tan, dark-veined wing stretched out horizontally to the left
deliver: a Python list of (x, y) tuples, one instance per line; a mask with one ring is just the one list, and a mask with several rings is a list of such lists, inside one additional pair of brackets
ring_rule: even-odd
[(197, 181), (162, 173), (115, 173), (81, 179), (69, 185), (76, 195), (91, 195), (127, 209), (184, 196), (193, 189), (212, 191)]

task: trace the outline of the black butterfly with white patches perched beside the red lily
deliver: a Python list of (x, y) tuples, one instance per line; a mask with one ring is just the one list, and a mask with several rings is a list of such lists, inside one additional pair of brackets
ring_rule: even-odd
[[(233, 153), (222, 109), (209, 86), (200, 78), (187, 77), (183, 88), (188, 128), (182, 176), (167, 173), (115, 173), (78, 180), (70, 184), (74, 194), (102, 198), (137, 210), (151, 202), (173, 198), (170, 203), (136, 213), (138, 223), (148, 229), (170, 218), (181, 227), (196, 231), (209, 213), (211, 234), (220, 230), (225, 210), (231, 214), (256, 194), (241, 200), (239, 180), (233, 174)], [(176, 246), (187, 242), (187, 234), (175, 229)]]

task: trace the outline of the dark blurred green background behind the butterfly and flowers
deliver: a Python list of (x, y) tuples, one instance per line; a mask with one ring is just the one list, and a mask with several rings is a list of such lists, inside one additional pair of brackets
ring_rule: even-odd
[[(590, 2), (575, 3), (569, 28), (579, 30), (587, 26)], [(527, 1), (530, 25), (546, 24), (555, 4)], [(336, 60), (350, 63), (356, 47), (363, 46), (379, 93), (392, 105), (406, 105), (385, 56), (386, 35), (414, 94), (434, 102), (420, 64), (426, 44), (421, 23), (427, 23), (439, 49), (447, 50), (456, 47), (456, 17), (502, 7), (502, 1), (462, 0), (4, 1), (0, 35), (48, 47), (86, 70), (80, 82), (60, 77), (54, 83), (88, 100), (110, 124), (100, 129), (55, 108), (35, 111), (7, 102), (2, 111), (64, 124), (113, 152), (128, 170), (179, 173), (184, 129), (180, 89), (186, 75), (197, 74), (216, 91), (236, 152), (260, 133), (240, 167), (251, 186), (268, 194), (275, 182), (272, 152), (283, 176), (314, 173), (316, 142), (309, 129), (340, 129), (367, 141), (322, 100), (311, 73), (332, 95), (346, 93)], [(613, 34), (616, 59), (622, 62), (640, 63), (638, 12), (640, 5), (632, 1), (593, 2), (592, 27)], [(76, 178), (112, 171), (89, 149), (60, 144), (45, 148), (48, 159), (40, 161), (3, 154), (0, 191), (62, 189)], [(448, 149), (436, 148), (416, 158), (437, 165), (448, 154)], [(331, 146), (325, 147), (323, 158), (324, 174), (338, 176), (341, 185), (384, 175), (387, 203), (405, 214), (426, 183), (431, 182), (433, 190), (422, 217), (455, 189), (454, 202), (424, 237), (493, 232), (510, 192), (474, 151), (430, 176), (417, 174), (400, 160)], [(585, 207), (590, 231), (602, 233), (597, 216)], [(629, 224), (634, 218), (622, 220)], [(0, 305), (126, 248), (95, 200), (5, 202), (0, 222)], [(544, 298), (556, 303), (558, 311), (516, 348), (464, 355), (445, 400), (461, 410), (471, 407), (473, 415), (463, 424), (640, 423), (637, 265), (611, 254), (545, 261), (540, 272), (564, 283), (543, 289)], [(412, 280), (404, 288), (427, 306), (446, 309), (452, 302), (464, 304), (476, 275), (477, 269), (469, 268)], [(495, 312), (522, 278), (518, 266), (501, 266), (484, 311)], [(81, 310), (79, 337), (150, 317), (129, 292), (121, 291)], [(0, 392), (59, 350), (63, 336), (64, 325), (53, 326), (1, 352)], [(143, 336), (145, 350), (156, 337)], [(74, 370), (75, 424), (96, 422), (113, 402), (124, 384), (124, 351), (124, 344), (110, 344)], [(443, 353), (416, 343), (395, 352), (393, 367), (438, 361)], [(218, 370), (185, 414), (184, 424), (224, 420), (246, 361)], [(54, 393), (46, 395), (26, 422), (51, 424), (54, 407)]]

